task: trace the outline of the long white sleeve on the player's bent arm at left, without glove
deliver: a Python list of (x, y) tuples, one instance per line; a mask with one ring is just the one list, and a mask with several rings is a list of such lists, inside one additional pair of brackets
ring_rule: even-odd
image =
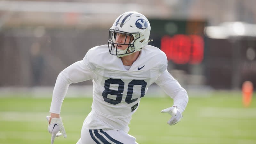
[(69, 84), (90, 80), (93, 77), (92, 70), (86, 67), (84, 61), (77, 61), (61, 71), (53, 89), (50, 112), (60, 114), (61, 104)]

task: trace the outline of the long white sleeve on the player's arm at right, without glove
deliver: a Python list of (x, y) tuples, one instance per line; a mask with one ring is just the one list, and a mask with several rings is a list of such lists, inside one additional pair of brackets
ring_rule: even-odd
[(157, 78), (156, 84), (164, 89), (166, 94), (173, 99), (172, 106), (177, 106), (182, 113), (188, 104), (188, 93), (180, 86), (180, 83), (165, 70), (164, 73)]

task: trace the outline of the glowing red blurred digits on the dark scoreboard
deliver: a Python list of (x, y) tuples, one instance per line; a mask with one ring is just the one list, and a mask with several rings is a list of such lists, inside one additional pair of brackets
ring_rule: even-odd
[(164, 35), (161, 50), (176, 64), (198, 64), (204, 58), (204, 40), (200, 35)]

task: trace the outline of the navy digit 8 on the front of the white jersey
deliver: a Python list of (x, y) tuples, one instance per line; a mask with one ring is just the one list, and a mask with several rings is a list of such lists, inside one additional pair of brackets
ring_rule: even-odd
[[(109, 90), (110, 84), (118, 84), (118, 90)], [(110, 104), (119, 104), (121, 103), (123, 92), (124, 92), (124, 82), (120, 79), (107, 79), (105, 81), (104, 85), (105, 90), (102, 92), (102, 96), (104, 98), (105, 102), (108, 102)], [(108, 94), (115, 95), (116, 99), (110, 99), (108, 98)]]

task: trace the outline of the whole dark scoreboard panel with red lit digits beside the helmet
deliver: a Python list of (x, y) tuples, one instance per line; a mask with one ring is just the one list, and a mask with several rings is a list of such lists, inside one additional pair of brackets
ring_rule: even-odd
[(175, 64), (200, 64), (204, 59), (205, 21), (149, 19), (152, 45)]

